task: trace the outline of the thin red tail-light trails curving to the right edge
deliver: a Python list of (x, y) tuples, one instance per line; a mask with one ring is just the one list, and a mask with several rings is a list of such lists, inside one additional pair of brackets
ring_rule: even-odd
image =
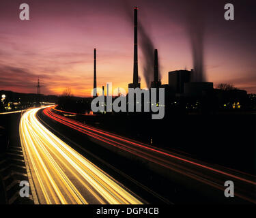
[[(117, 136), (116, 134), (109, 133), (108, 131), (103, 131), (96, 127), (91, 127), (78, 121), (68, 119), (65, 116), (61, 116), (52, 112), (51, 109), (56, 110), (55, 108), (46, 108), (44, 109), (43, 113), (51, 119), (62, 123), (63, 125), (66, 125), (72, 129), (76, 129), (77, 131), (80, 131), (83, 134), (86, 134), (87, 136), (96, 140), (100, 140), (109, 146), (115, 146), (118, 149), (122, 149), (122, 151), (126, 151), (139, 158), (143, 158), (147, 161), (156, 163), (164, 168), (168, 168), (169, 170), (174, 170), (175, 172), (185, 174), (190, 178), (194, 178), (197, 181), (201, 181), (202, 183), (206, 183), (216, 187), (217, 189), (223, 190), (224, 182), (231, 179), (238, 180), (240, 183), (246, 183), (246, 185), (250, 186), (256, 185), (255, 181), (253, 181), (255, 178), (251, 175), (246, 175), (235, 171), (229, 173), (223, 170), (218, 170), (216, 168), (212, 168), (212, 166), (209, 166), (207, 163), (201, 163), (193, 159), (188, 159), (188, 157), (173, 154), (169, 151), (158, 149), (154, 146), (137, 142), (122, 136)], [(60, 110), (58, 111), (63, 112)], [(230, 169), (227, 170), (231, 171)], [(256, 203), (255, 200), (246, 198), (246, 196), (243, 194), (240, 195), (237, 193), (236, 196), (240, 196), (240, 198)]]

